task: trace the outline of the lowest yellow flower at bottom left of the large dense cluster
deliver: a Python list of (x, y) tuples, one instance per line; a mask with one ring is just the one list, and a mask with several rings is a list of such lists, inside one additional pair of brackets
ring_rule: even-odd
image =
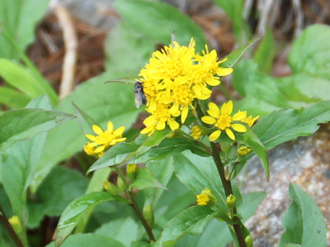
[[(165, 104), (158, 104), (153, 115), (144, 119), (143, 124), (146, 126), (141, 130), (141, 134), (148, 134), (150, 137), (155, 130), (164, 130), (166, 123), (170, 126), (171, 130), (177, 130), (179, 124), (171, 117), (170, 108)], [(173, 113), (172, 113), (173, 114)], [(179, 113), (177, 113), (177, 116)]]

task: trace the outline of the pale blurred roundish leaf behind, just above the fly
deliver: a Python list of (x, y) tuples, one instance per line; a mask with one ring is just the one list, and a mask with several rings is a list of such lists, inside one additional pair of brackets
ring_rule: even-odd
[(109, 32), (104, 46), (107, 69), (129, 68), (132, 70), (130, 75), (137, 75), (155, 49), (152, 40), (137, 33), (124, 22), (120, 22)]

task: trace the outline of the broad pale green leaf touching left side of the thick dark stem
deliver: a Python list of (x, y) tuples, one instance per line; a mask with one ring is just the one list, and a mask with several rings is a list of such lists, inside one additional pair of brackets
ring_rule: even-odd
[(225, 207), (225, 191), (221, 184), (217, 167), (212, 157), (204, 158), (189, 151), (173, 156), (175, 174), (181, 183), (191, 189), (195, 195), (206, 187), (217, 196), (221, 208)]

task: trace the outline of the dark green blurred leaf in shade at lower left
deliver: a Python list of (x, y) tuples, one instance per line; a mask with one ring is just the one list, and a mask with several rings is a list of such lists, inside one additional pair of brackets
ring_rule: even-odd
[(54, 167), (36, 192), (38, 200), (28, 201), (28, 226), (39, 226), (45, 215), (61, 215), (70, 202), (85, 193), (87, 184), (83, 174), (63, 166)]

